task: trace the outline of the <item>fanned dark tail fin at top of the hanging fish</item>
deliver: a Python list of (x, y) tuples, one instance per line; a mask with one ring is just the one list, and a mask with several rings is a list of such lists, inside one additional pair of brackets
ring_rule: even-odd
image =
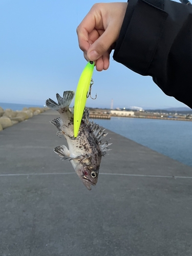
[(61, 97), (57, 93), (56, 97), (57, 97), (58, 103), (56, 103), (52, 99), (47, 99), (46, 100), (46, 105), (48, 106), (48, 108), (50, 108), (52, 110), (57, 110), (58, 111), (60, 109), (65, 109), (71, 104), (71, 101), (72, 101), (74, 95), (75, 95), (74, 91), (63, 92), (63, 97)]

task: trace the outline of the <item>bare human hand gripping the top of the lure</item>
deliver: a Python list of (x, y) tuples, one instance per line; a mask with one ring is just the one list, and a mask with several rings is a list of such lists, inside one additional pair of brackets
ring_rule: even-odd
[(95, 61), (97, 71), (109, 68), (126, 7), (127, 3), (95, 4), (77, 27), (79, 48), (88, 61)]

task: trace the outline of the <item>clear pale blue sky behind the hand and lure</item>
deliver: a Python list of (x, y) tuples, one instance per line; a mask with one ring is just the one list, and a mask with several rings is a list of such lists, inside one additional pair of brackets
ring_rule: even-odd
[[(0, 1), (0, 102), (43, 105), (56, 93), (76, 90), (87, 63), (78, 47), (76, 27), (95, 3)], [(134, 73), (112, 57), (109, 70), (94, 70), (93, 80), (97, 99), (88, 99), (90, 107), (110, 108), (112, 99), (114, 108), (185, 106), (166, 96), (151, 77)]]

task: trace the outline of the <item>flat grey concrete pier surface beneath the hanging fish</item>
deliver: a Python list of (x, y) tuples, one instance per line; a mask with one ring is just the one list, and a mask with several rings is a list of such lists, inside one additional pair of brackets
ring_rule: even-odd
[(56, 115), (0, 132), (0, 255), (191, 256), (192, 168), (109, 131), (89, 191), (53, 152)]

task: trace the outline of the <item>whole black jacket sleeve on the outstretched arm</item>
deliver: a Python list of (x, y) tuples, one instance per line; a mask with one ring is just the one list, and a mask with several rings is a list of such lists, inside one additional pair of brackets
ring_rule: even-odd
[(129, 0), (113, 57), (192, 108), (192, 6)]

